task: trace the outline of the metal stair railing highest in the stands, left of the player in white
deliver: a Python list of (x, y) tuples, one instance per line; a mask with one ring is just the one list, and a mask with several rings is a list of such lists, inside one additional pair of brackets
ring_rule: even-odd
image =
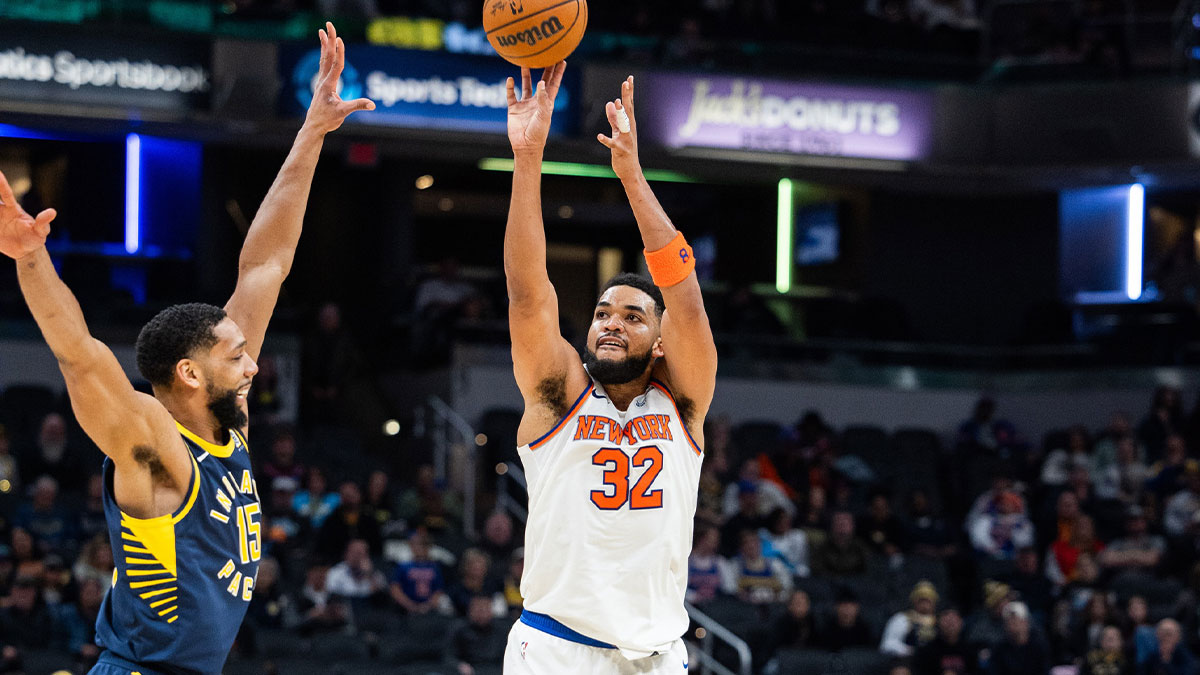
[(434, 478), (462, 492), (462, 532), (474, 537), (475, 430), (449, 404), (430, 396), (413, 411), (413, 431), (433, 446)]

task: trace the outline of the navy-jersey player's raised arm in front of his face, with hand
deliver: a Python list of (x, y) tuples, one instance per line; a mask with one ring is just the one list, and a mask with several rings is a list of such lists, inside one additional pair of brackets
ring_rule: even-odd
[(224, 307), (246, 335), (246, 352), (253, 359), (263, 347), (280, 287), (292, 270), (325, 135), (342, 126), (350, 113), (374, 109), (367, 98), (342, 101), (337, 95), (346, 44), (331, 23), (319, 35), (320, 70), (308, 115), (246, 234), (238, 261), (238, 287)]

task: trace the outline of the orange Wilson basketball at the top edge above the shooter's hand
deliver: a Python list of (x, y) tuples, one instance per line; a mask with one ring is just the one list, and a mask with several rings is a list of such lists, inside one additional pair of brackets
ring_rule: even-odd
[(484, 30), (510, 64), (546, 68), (566, 59), (588, 28), (587, 0), (487, 0)]

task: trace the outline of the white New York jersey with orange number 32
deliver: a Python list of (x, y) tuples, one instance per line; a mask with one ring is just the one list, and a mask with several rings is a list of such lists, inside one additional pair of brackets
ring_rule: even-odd
[(593, 382), (518, 452), (529, 484), (524, 609), (630, 659), (670, 651), (688, 629), (703, 455), (667, 387), (652, 381), (622, 412)]

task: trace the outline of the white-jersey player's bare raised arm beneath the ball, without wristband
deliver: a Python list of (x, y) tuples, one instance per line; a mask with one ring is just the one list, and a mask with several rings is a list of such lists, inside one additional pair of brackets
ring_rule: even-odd
[(514, 371), (527, 410), (547, 381), (582, 389), (586, 377), (578, 354), (558, 329), (558, 297), (546, 274), (546, 231), (541, 220), (542, 153), (565, 70), (565, 61), (546, 68), (534, 91), (529, 68), (522, 68), (520, 98), (512, 78), (508, 82), (509, 142), (516, 166), (504, 231), (504, 275)]

